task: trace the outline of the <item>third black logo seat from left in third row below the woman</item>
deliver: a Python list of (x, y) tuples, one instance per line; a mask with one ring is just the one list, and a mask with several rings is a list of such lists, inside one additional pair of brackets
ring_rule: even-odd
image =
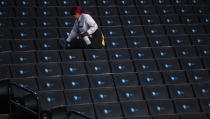
[(63, 82), (64, 82), (65, 89), (89, 88), (89, 82), (85, 75), (64, 76)]

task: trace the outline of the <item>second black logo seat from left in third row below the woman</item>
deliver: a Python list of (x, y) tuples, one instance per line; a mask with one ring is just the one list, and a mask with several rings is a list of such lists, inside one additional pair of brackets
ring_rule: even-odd
[(63, 81), (60, 77), (39, 77), (37, 79), (39, 90), (48, 91), (48, 90), (63, 90)]

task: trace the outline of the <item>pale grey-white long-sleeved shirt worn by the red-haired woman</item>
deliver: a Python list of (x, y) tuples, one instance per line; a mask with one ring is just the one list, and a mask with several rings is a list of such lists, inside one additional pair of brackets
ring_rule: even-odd
[(89, 14), (81, 14), (79, 19), (74, 22), (74, 26), (69, 34), (67, 41), (70, 42), (77, 37), (80, 32), (93, 34), (98, 29), (98, 25)]

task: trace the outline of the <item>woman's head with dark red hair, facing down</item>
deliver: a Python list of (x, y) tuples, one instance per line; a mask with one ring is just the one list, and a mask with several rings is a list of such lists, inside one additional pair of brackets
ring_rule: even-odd
[(79, 19), (79, 17), (80, 17), (81, 14), (87, 14), (87, 11), (83, 10), (79, 6), (71, 8), (71, 15), (75, 19)]

